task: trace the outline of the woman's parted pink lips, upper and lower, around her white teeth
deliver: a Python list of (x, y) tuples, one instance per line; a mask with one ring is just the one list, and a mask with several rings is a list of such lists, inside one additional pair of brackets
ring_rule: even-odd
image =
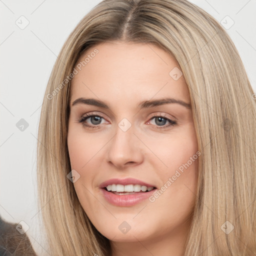
[(145, 183), (139, 179), (135, 179), (135, 178), (124, 178), (124, 179), (119, 179), (119, 178), (112, 178), (112, 179), (108, 179), (104, 182), (102, 182), (99, 187), (101, 188), (101, 192), (103, 194), (103, 197), (111, 204), (113, 205), (117, 205), (117, 206), (131, 206), (134, 205), (136, 203), (139, 203), (142, 200), (147, 199), (150, 195), (152, 195), (156, 188), (152, 189), (151, 191), (147, 191), (147, 192), (136, 192), (134, 194), (125, 194), (125, 195), (118, 195), (118, 194), (114, 194), (112, 192), (109, 192), (107, 190), (105, 190), (105, 187), (107, 185), (111, 185), (111, 184), (121, 184), (121, 185), (128, 185), (128, 184), (139, 184), (141, 186), (153, 186), (152, 184), (149, 183)]

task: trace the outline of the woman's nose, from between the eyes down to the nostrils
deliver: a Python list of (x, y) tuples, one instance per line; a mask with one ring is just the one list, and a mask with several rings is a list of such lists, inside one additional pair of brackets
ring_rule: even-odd
[(143, 161), (141, 141), (133, 134), (132, 126), (126, 131), (117, 126), (116, 134), (108, 145), (107, 161), (118, 169), (137, 165)]

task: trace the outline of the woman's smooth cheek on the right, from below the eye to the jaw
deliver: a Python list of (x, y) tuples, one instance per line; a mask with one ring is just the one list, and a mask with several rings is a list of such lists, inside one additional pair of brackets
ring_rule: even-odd
[(165, 208), (166, 214), (171, 211), (177, 222), (186, 218), (194, 205), (200, 155), (197, 149), (195, 131), (190, 125), (154, 146), (165, 166), (158, 170), (162, 186), (150, 201)]

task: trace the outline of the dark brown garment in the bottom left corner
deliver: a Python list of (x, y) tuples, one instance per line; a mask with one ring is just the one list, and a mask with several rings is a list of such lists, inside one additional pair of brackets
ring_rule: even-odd
[(21, 234), (16, 225), (0, 217), (0, 256), (36, 256), (26, 233)]

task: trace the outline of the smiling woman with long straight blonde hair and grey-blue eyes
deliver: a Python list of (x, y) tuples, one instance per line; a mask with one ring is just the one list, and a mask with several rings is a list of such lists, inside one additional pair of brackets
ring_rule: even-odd
[(38, 134), (51, 255), (253, 255), (255, 101), (186, 0), (105, 0), (53, 67)]

